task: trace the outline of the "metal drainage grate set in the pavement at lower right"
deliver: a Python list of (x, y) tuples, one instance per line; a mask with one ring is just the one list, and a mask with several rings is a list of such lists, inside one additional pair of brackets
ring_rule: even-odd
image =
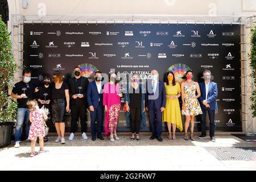
[(256, 160), (256, 147), (204, 147), (218, 160)]

